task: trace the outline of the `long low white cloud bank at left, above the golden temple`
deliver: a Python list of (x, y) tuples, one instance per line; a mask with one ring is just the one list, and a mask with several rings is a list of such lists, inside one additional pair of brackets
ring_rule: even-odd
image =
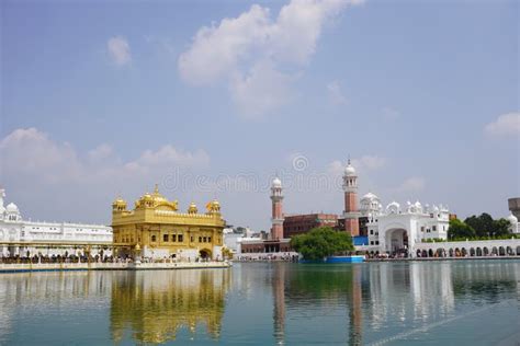
[(68, 143), (50, 140), (36, 128), (16, 129), (0, 141), (3, 178), (56, 184), (81, 182), (110, 184), (117, 180), (146, 180), (168, 173), (173, 168), (205, 168), (210, 157), (203, 150), (179, 150), (166, 145), (146, 150), (136, 160), (123, 162), (109, 145), (101, 145), (83, 158)]

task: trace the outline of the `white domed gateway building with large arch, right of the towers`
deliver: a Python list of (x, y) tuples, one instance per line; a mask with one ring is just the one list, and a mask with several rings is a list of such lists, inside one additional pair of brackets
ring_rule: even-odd
[(383, 209), (380, 198), (366, 194), (360, 203), (362, 217), (369, 219), (368, 250), (380, 253), (406, 252), (428, 239), (448, 239), (448, 207), (407, 203), (406, 208), (393, 201)]

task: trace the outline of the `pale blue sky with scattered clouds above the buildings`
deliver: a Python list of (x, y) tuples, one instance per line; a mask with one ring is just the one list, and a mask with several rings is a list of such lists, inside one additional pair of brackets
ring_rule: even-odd
[(0, 185), (32, 220), (110, 224), (158, 184), (235, 226), (360, 196), (509, 214), (517, 1), (1, 1)]

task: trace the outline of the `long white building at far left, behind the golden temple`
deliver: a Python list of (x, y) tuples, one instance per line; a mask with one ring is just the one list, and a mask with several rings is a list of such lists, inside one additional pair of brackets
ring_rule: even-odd
[(101, 251), (110, 255), (112, 228), (101, 224), (39, 222), (24, 220), (13, 203), (4, 207), (5, 191), (0, 188), (0, 257), (37, 254), (83, 254)]

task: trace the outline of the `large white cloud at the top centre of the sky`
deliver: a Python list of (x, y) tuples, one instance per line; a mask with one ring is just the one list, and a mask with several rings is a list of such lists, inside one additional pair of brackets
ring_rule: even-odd
[(275, 20), (268, 8), (253, 4), (237, 18), (201, 27), (179, 57), (180, 76), (193, 85), (224, 81), (242, 114), (269, 113), (287, 102), (291, 81), (316, 51), (324, 24), (360, 2), (293, 0)]

